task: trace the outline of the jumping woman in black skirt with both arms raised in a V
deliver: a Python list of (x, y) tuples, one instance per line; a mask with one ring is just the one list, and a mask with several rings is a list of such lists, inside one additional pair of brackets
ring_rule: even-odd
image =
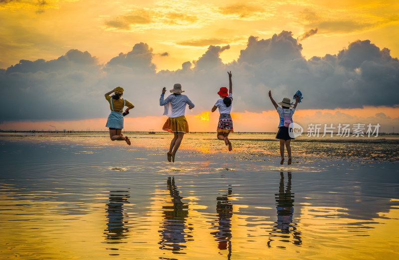
[(283, 98), (283, 101), (278, 103), (279, 105), (281, 105), (281, 108), (271, 97), (271, 91), (269, 91), (269, 97), (271, 103), (273, 103), (280, 117), (280, 123), (278, 124), (278, 132), (276, 135), (276, 139), (280, 139), (280, 155), (281, 155), (280, 164), (284, 163), (284, 145), (285, 145), (287, 147), (287, 153), (288, 153), (288, 165), (290, 165), (292, 162), (290, 142), (291, 139), (294, 138), (290, 137), (288, 132), (289, 130), (288, 127), (292, 122), (292, 115), (294, 114), (295, 108), (298, 105), (299, 97), (298, 96), (296, 97), (294, 106), (291, 106), (291, 100), (289, 98)]

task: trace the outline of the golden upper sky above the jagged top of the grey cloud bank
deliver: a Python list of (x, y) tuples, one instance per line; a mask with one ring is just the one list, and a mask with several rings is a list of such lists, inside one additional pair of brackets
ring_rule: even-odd
[(230, 45), (220, 55), (226, 63), (249, 36), (282, 30), (302, 39), (308, 59), (337, 54), (358, 39), (399, 56), (397, 0), (0, 0), (0, 18), (0, 68), (70, 49), (106, 63), (145, 42), (157, 70), (176, 70), (211, 44)]

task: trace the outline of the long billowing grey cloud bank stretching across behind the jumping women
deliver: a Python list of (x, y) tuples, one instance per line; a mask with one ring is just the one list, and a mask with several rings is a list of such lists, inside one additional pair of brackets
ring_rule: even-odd
[(116, 86), (122, 86), (124, 98), (135, 105), (130, 117), (161, 116), (161, 89), (171, 89), (175, 83), (182, 84), (196, 104), (193, 113), (200, 114), (211, 109), (217, 90), (228, 86), (226, 71), (230, 70), (235, 113), (273, 111), (269, 90), (277, 102), (283, 97), (292, 99), (301, 90), (304, 99), (298, 111), (399, 104), (393, 94), (399, 86), (399, 61), (369, 40), (306, 60), (301, 44), (289, 31), (268, 39), (250, 36), (237, 60), (224, 64), (220, 54), (229, 48), (210, 45), (197, 60), (183, 63), (182, 69), (158, 73), (152, 59), (159, 54), (143, 42), (106, 64), (99, 64), (87, 51), (74, 49), (54, 60), (21, 60), (0, 70), (1, 92), (13, 93), (18, 100), (17, 105), (12, 99), (0, 102), (0, 122), (107, 117), (104, 94)]

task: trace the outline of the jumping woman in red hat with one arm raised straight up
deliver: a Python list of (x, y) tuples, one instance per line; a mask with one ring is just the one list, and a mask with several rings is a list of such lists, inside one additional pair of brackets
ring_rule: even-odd
[(229, 82), (229, 90), (227, 92), (227, 88), (221, 87), (217, 94), (220, 99), (216, 101), (215, 105), (212, 108), (212, 112), (215, 112), (216, 109), (219, 109), (220, 117), (219, 123), (217, 124), (217, 139), (223, 140), (226, 145), (228, 145), (228, 150), (232, 150), (231, 142), (228, 139), (228, 134), (233, 132), (233, 121), (231, 120), (230, 111), (231, 111), (231, 103), (233, 102), (232, 96), (232, 86), (231, 83), (231, 71), (228, 73), (228, 82)]

